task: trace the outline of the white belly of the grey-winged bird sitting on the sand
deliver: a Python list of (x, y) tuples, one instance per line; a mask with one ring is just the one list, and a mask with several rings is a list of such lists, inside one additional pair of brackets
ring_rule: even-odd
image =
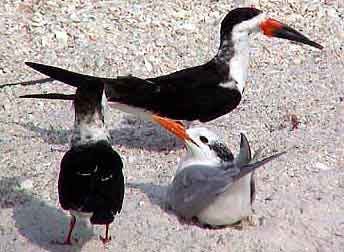
[(198, 220), (203, 224), (222, 226), (234, 224), (250, 216), (252, 214), (250, 182), (251, 174), (235, 182), (199, 213)]

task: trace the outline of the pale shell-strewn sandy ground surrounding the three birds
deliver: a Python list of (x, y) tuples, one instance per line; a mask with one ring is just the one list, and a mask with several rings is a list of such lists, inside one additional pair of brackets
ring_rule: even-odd
[[(209, 60), (219, 24), (244, 1), (3, 1), (0, 85), (45, 78), (35, 61), (97, 76), (156, 76)], [(344, 4), (246, 1), (321, 43), (322, 51), (251, 39), (244, 99), (205, 126), (234, 153), (239, 133), (265, 155), (289, 153), (257, 172), (256, 227), (209, 230), (180, 223), (163, 193), (183, 145), (156, 125), (109, 110), (114, 148), (125, 163), (122, 213), (104, 248), (79, 223), (73, 247), (57, 200), (60, 160), (73, 126), (71, 102), (18, 99), (73, 92), (60, 82), (0, 89), (0, 251), (344, 251)], [(291, 118), (298, 129), (292, 130)]]

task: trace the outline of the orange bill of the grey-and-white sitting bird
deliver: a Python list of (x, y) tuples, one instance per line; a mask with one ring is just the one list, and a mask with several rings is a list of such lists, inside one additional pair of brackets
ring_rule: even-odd
[(154, 122), (158, 123), (165, 129), (167, 129), (169, 132), (171, 132), (173, 135), (179, 137), (184, 142), (190, 141), (198, 146), (198, 144), (194, 140), (192, 140), (192, 138), (187, 134), (184, 125), (180, 121), (174, 121), (158, 115), (153, 115), (152, 119)]

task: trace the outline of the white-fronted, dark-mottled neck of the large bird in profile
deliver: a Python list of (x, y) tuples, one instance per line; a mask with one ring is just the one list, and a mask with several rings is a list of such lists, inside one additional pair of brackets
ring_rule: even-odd
[(221, 44), (215, 61), (226, 64), (229, 68), (228, 79), (235, 80), (242, 94), (245, 89), (249, 67), (248, 33), (231, 32), (221, 37)]

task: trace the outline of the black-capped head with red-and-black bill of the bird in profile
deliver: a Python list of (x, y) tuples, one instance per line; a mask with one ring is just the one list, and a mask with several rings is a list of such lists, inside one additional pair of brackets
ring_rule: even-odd
[(251, 33), (261, 32), (268, 37), (287, 39), (323, 49), (320, 44), (308, 39), (300, 32), (275, 19), (268, 18), (262, 11), (252, 8), (236, 8), (230, 11), (221, 23), (221, 38), (231, 38), (232, 43)]

